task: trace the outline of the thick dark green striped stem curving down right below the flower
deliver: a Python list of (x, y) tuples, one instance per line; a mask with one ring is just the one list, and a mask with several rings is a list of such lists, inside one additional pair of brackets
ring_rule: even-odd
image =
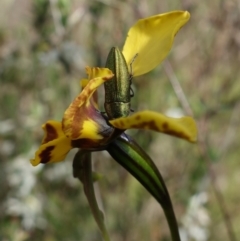
[(169, 193), (160, 172), (151, 158), (126, 134), (122, 134), (111, 142), (107, 151), (160, 203), (167, 218), (172, 240), (180, 241), (177, 220)]

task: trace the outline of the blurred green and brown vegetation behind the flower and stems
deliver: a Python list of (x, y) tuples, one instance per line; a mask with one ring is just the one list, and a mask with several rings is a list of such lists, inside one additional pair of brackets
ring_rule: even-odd
[[(166, 181), (183, 241), (240, 239), (240, 4), (237, 0), (1, 0), (0, 240), (97, 241), (100, 232), (72, 151), (32, 167), (48, 119), (61, 120), (85, 66), (104, 66), (139, 18), (188, 10), (190, 22), (157, 69), (134, 79), (133, 109), (193, 115), (199, 142), (130, 134)], [(103, 99), (100, 100), (103, 102)], [(97, 197), (114, 241), (170, 240), (161, 207), (107, 153)]]

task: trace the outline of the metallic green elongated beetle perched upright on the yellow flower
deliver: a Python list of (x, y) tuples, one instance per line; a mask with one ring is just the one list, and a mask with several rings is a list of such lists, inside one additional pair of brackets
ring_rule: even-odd
[(109, 68), (114, 76), (104, 83), (105, 103), (104, 107), (109, 119), (126, 117), (131, 110), (130, 99), (132, 75), (122, 52), (113, 47), (107, 57), (106, 68)]

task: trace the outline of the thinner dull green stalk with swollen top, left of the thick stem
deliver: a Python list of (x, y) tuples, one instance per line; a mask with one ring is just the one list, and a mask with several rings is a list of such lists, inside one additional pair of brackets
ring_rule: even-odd
[(102, 233), (104, 241), (110, 241), (109, 234), (104, 224), (104, 216), (98, 208), (92, 179), (91, 152), (79, 150), (73, 160), (73, 176), (77, 177), (84, 187), (85, 195), (93, 213), (94, 219)]

